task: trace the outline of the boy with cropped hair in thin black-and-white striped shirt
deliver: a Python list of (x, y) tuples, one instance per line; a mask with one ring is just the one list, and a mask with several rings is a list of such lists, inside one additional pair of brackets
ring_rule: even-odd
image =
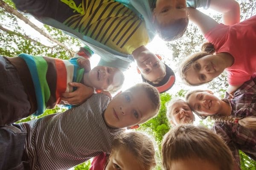
[(113, 139), (124, 127), (146, 122), (159, 108), (157, 89), (140, 83), (111, 101), (105, 94), (93, 94), (63, 113), (1, 127), (0, 156), (5, 159), (0, 159), (0, 168), (29, 161), (30, 169), (69, 169), (102, 152), (110, 153)]

